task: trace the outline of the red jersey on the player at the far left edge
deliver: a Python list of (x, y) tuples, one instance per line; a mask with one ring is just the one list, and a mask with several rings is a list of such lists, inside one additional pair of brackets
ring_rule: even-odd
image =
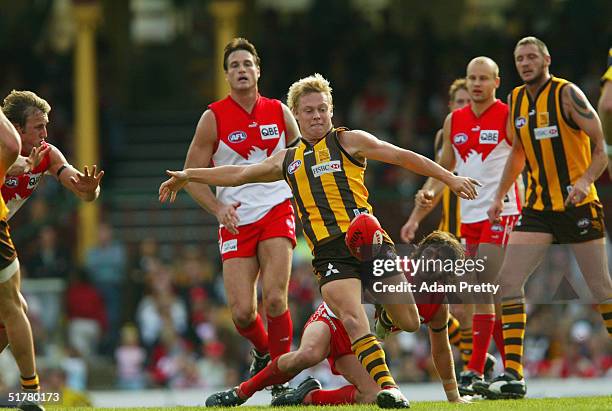
[[(43, 145), (46, 143), (43, 142)], [(27, 155), (27, 154), (25, 154)], [(6, 176), (2, 186), (2, 198), (9, 209), (7, 220), (21, 208), (23, 203), (32, 195), (43, 175), (51, 166), (51, 157), (47, 153), (34, 170), (18, 176)]]

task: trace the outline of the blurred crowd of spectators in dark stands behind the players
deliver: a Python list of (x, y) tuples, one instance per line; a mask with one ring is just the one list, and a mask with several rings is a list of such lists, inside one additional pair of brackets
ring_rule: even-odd
[[(11, 89), (30, 89), (47, 99), (53, 107), (49, 141), (71, 158), (71, 54), (48, 37), (45, 23), (54, 2), (23, 3), (0, 17), (0, 92), (5, 96)], [(103, 3), (111, 11), (123, 7), (118, 2)], [(189, 19), (189, 29), (168, 44), (133, 45), (135, 57), (130, 62), (113, 63), (115, 40), (109, 31), (120, 23), (107, 16), (108, 27), (99, 36), (101, 151), (107, 171), (103, 214), (109, 211), (113, 195), (104, 189), (104, 183), (112, 184), (116, 177), (113, 156), (130, 138), (121, 131), (122, 120), (147, 110), (198, 111), (214, 99), (206, 67), (212, 61), (212, 32), (201, 20), (206, 14), (202, 3), (207, 2), (169, 3), (200, 20)], [(265, 95), (283, 99), (292, 81), (319, 71), (334, 87), (335, 124), (365, 129), (429, 154), (446, 114), (446, 89), (463, 74), (469, 58), (482, 54), (499, 63), (498, 97), (504, 98), (518, 84), (511, 53), (516, 39), (527, 33), (541, 35), (554, 57), (553, 73), (576, 81), (595, 104), (611, 39), (612, 9), (603, 1), (545, 1), (550, 7), (546, 18), (537, 10), (543, 5), (504, 2), (510, 5), (500, 11), (503, 30), (471, 21), (468, 9), (457, 17), (438, 5), (436, 16), (411, 1), (384, 2), (392, 6), (368, 13), (351, 7), (358, 2), (312, 1), (297, 14), (264, 7), (266, 2), (247, 3), (246, 13), (252, 15), (245, 19), (241, 34), (260, 50), (260, 89)], [(412, 10), (400, 7), (402, 3)], [(20, 27), (15, 19), (26, 12), (32, 20)], [(165, 59), (187, 63), (161, 66)], [(131, 66), (124, 76), (128, 78), (117, 78), (117, 70), (126, 65)], [(158, 87), (146, 94), (153, 79)], [(159, 172), (161, 181), (163, 170)], [(377, 215), (397, 238), (421, 181), (399, 168), (373, 163), (367, 178)], [(609, 181), (602, 180), (598, 189), (610, 216)], [(150, 189), (151, 201), (156, 201), (157, 186)], [(225, 307), (216, 244), (167, 244), (154, 237), (125, 241), (108, 223), (101, 226), (97, 245), (79, 264), (74, 255), (75, 214), (76, 201), (47, 179), (11, 220), (23, 277), (30, 287), (24, 291), (42, 386), (54, 384), (53, 378), (65, 379), (76, 390), (235, 385), (247, 371), (250, 347), (235, 332)], [(435, 218), (428, 221), (421, 234), (434, 227)], [(559, 270), (573, 267), (563, 255), (551, 259)], [(310, 253), (302, 242), (294, 255), (289, 292), (294, 341), (299, 341), (301, 328), (319, 301)], [(528, 316), (525, 363), (530, 377), (612, 375), (607, 334), (590, 306), (531, 305)], [(398, 382), (427, 381), (435, 375), (427, 344), (425, 332), (403, 333), (386, 344)], [(1, 364), (12, 366), (10, 361)], [(18, 375), (4, 373), (0, 384), (16, 384), (8, 379), (11, 374)]]

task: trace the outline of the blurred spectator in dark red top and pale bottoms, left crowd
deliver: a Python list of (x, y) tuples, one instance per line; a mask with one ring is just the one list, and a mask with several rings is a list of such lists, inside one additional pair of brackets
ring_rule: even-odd
[(101, 336), (108, 329), (106, 310), (100, 293), (82, 270), (74, 269), (70, 277), (66, 290), (68, 342), (87, 357), (97, 352)]

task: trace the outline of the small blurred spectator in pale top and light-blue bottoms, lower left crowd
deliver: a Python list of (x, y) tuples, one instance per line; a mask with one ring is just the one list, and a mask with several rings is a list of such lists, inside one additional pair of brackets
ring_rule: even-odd
[(144, 363), (147, 353), (140, 346), (138, 329), (133, 324), (121, 328), (121, 345), (115, 350), (117, 385), (123, 390), (145, 388)]

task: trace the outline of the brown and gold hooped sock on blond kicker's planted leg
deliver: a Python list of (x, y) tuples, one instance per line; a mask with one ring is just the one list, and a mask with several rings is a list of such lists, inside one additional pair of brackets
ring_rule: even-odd
[(380, 388), (397, 387), (385, 361), (385, 352), (376, 336), (366, 334), (358, 338), (352, 343), (351, 349)]

